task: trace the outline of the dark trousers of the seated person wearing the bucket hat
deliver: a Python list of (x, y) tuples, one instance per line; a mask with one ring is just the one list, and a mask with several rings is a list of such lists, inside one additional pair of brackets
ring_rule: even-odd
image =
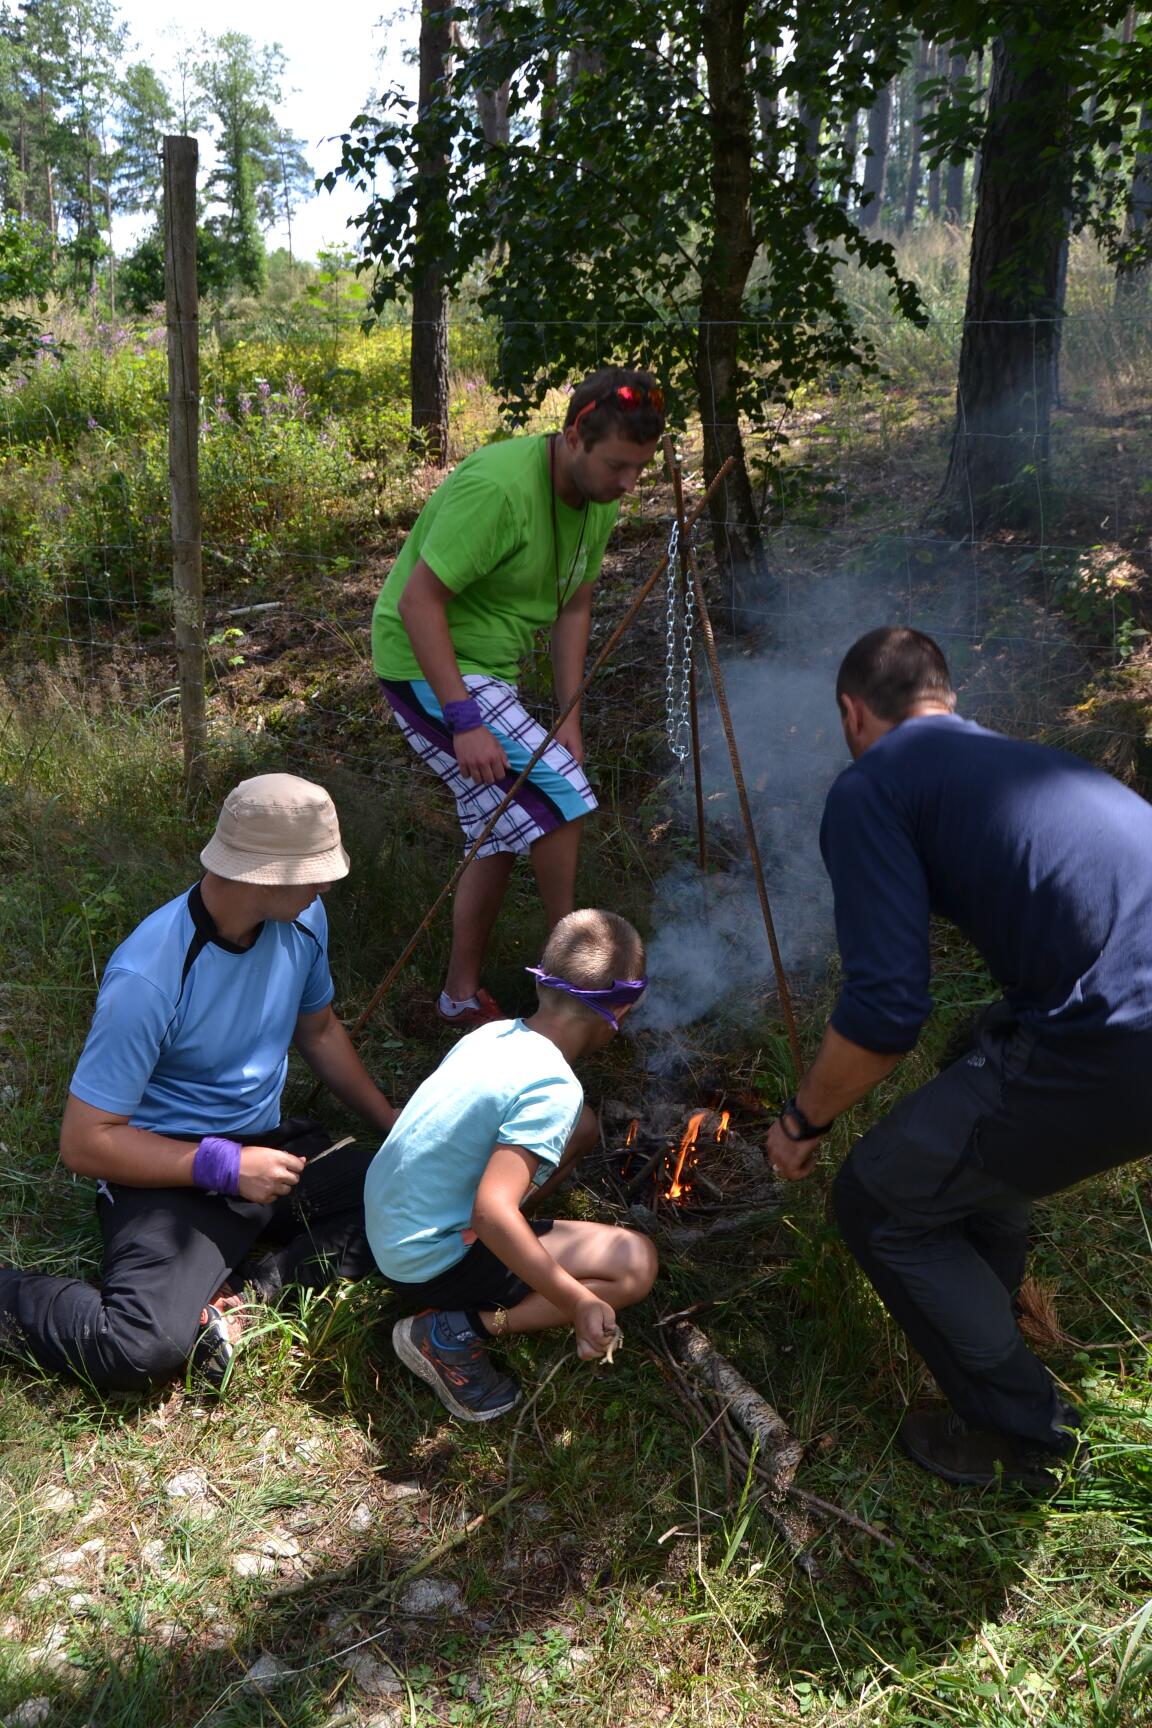
[[(250, 1135), (299, 1156), (330, 1144), (318, 1125), (288, 1120)], [(283, 1284), (320, 1289), (373, 1270), (364, 1236), (364, 1173), (373, 1151), (347, 1146), (306, 1165), (292, 1194), (269, 1204), (193, 1187), (100, 1184), (104, 1272), (81, 1279), (0, 1272), (0, 1315), (12, 1348), (90, 1386), (143, 1389), (180, 1374), (200, 1310), (264, 1239)]]

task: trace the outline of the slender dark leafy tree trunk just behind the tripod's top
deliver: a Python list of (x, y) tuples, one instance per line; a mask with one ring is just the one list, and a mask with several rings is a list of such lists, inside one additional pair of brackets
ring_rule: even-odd
[[(708, 71), (713, 233), (699, 263), (696, 385), (705, 437), (705, 484), (720, 465), (736, 467), (712, 501), (717, 563), (737, 607), (763, 598), (767, 560), (739, 430), (739, 320), (756, 242), (751, 226), (753, 104), (744, 78), (746, 0), (703, 0), (701, 43)], [(731, 622), (731, 620), (729, 620)]]

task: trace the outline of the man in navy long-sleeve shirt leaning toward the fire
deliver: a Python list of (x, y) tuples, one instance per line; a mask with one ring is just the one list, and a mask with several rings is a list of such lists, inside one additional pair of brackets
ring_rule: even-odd
[(1016, 1324), (1029, 1203), (1152, 1151), (1152, 807), (1088, 764), (955, 712), (919, 631), (879, 629), (836, 683), (853, 757), (820, 831), (845, 983), (769, 1134), (810, 1173), (832, 1120), (931, 1011), (929, 918), (1002, 988), (972, 1047), (857, 1142), (841, 1232), (952, 1412), (912, 1412), (908, 1455), (946, 1481), (1040, 1484), (1076, 1415)]

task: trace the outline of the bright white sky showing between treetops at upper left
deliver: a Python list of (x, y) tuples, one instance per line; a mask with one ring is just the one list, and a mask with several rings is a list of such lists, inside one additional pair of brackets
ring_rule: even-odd
[[(415, 47), (418, 21), (396, 0), (311, 0), (309, 5), (283, 5), (283, 0), (199, 0), (193, 14), (176, 12), (157, 0), (119, 0), (117, 12), (128, 26), (128, 60), (147, 60), (164, 76), (174, 57), (173, 31), (221, 36), (242, 31), (257, 47), (278, 41), (288, 59), (285, 100), (278, 111), (283, 124), (304, 143), (304, 156), (316, 175), (326, 173), (340, 159), (340, 145), (326, 142), (347, 131), (368, 93), (387, 83), (415, 85), (415, 67), (404, 64), (404, 50)], [(382, 17), (399, 12), (390, 22)], [(190, 24), (192, 19), (192, 24)], [(382, 60), (383, 55), (383, 60)], [(171, 85), (171, 79), (166, 78)], [(200, 138), (200, 173), (211, 157), (207, 138)], [(316, 257), (323, 245), (354, 245), (356, 232), (345, 226), (363, 207), (363, 195), (340, 185), (337, 192), (318, 192), (292, 218), (292, 251), (297, 257)], [(116, 225), (117, 251), (130, 247), (149, 221), (124, 219)], [(268, 249), (287, 245), (283, 228), (266, 235)]]

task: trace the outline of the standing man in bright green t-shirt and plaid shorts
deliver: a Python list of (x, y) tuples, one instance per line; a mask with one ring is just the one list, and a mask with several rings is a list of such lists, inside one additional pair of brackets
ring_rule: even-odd
[[(373, 665), (401, 731), (454, 793), (468, 845), (544, 738), (516, 695), (537, 631), (551, 631), (558, 705), (580, 686), (604, 546), (661, 432), (649, 373), (592, 373), (561, 432), (487, 444), (449, 473), (383, 584)], [(572, 911), (596, 809), (582, 762), (573, 708), (459, 880), (439, 1002), (456, 1026), (503, 1018), (480, 968), (516, 854), (532, 859), (549, 930)]]

